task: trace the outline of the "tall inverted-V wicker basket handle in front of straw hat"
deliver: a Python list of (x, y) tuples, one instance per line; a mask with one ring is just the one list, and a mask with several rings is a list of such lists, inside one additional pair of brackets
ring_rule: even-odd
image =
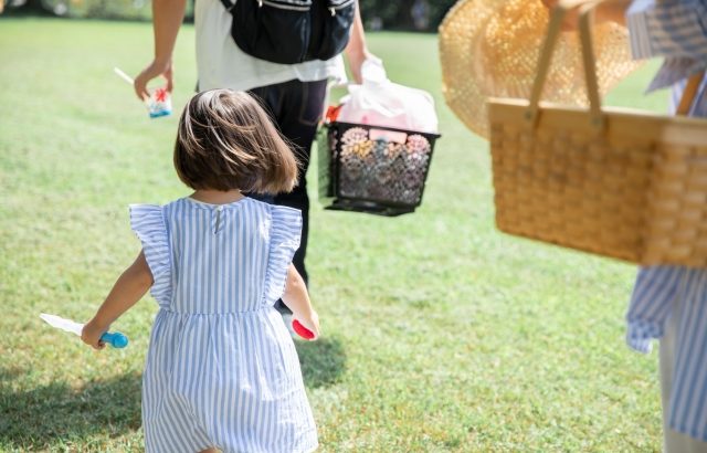
[(591, 35), (592, 11), (603, 0), (590, 1), (584, 0), (562, 0), (550, 12), (550, 23), (548, 25), (547, 36), (540, 52), (538, 62), (538, 71), (530, 92), (530, 105), (526, 112), (526, 119), (531, 127), (538, 122), (540, 96), (550, 71), (555, 45), (560, 36), (562, 29), (562, 20), (568, 11), (579, 8), (579, 35), (582, 49), (582, 66), (584, 69), (584, 81), (587, 83), (587, 96), (589, 97), (589, 108), (591, 122), (600, 130), (603, 129), (603, 116), (601, 112), (601, 97), (599, 96), (599, 83), (597, 82), (597, 71), (594, 52)]

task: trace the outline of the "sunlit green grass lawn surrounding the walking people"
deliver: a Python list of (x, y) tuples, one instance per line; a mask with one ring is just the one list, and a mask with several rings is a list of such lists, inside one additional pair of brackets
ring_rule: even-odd
[[(320, 451), (659, 451), (657, 357), (623, 343), (634, 266), (497, 232), (488, 146), (443, 103), (436, 38), (369, 42), (395, 82), (432, 92), (443, 137), (414, 214), (314, 203), (324, 337), (298, 350)], [(154, 301), (114, 325), (124, 350), (95, 352), (38, 315), (92, 316), (139, 250), (127, 204), (189, 193), (171, 164), (177, 115), (148, 119), (113, 74), (151, 50), (148, 23), (0, 20), (1, 451), (143, 449)], [(179, 112), (191, 27), (175, 69)], [(654, 70), (610, 103), (659, 109), (664, 95), (642, 95)]]

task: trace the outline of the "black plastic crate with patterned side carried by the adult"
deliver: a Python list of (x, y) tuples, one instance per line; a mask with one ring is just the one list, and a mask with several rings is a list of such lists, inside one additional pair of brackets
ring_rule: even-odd
[(319, 131), (326, 209), (400, 215), (422, 201), (437, 134), (331, 122)]

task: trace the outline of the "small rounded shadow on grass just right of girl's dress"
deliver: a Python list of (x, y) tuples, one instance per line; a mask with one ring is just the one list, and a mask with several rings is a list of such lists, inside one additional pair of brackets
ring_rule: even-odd
[(337, 338), (295, 341), (305, 384), (310, 388), (335, 384), (346, 370), (346, 352)]

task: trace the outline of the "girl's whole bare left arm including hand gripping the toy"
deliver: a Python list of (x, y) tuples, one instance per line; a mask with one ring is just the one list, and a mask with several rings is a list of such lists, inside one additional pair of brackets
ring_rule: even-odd
[(101, 341), (101, 336), (108, 330), (114, 320), (147, 293), (152, 283), (152, 273), (145, 260), (145, 253), (140, 251), (135, 262), (115, 282), (96, 315), (84, 326), (81, 339), (95, 349), (103, 349), (105, 344)]

